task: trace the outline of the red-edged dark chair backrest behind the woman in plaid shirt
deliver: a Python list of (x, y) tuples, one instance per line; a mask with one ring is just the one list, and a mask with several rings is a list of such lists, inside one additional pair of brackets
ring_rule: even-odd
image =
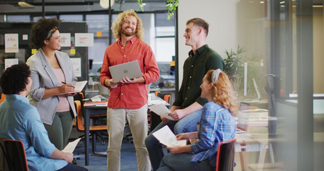
[(218, 144), (216, 171), (234, 170), (235, 141), (231, 139)]

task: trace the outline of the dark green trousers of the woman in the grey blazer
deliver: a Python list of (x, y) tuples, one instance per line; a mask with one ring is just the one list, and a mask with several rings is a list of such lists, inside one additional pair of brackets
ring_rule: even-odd
[(52, 125), (44, 123), (48, 132), (48, 137), (59, 150), (63, 150), (67, 145), (73, 126), (72, 111), (56, 112)]

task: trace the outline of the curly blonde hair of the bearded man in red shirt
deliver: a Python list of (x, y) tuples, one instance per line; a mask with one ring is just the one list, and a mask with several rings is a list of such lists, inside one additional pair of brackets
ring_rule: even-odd
[(137, 16), (136, 12), (133, 9), (129, 9), (129, 10), (123, 11), (123, 12), (121, 12), (121, 13), (118, 14), (118, 17), (112, 23), (112, 26), (111, 26), (111, 29), (113, 30), (113, 37), (115, 39), (119, 39), (121, 37), (121, 26), (122, 26), (122, 23), (124, 21), (126, 21), (126, 19), (129, 16), (134, 16), (137, 19), (136, 31), (135, 31), (135, 34), (134, 35), (138, 39), (143, 40), (143, 38), (144, 38), (143, 22), (142, 22), (142, 19)]

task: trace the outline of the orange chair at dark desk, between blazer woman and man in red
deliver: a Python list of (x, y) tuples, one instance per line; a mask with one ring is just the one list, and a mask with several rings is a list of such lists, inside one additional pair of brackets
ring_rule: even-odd
[[(81, 102), (79, 100), (74, 101), (75, 109), (76, 109), (76, 129), (79, 132), (84, 131), (84, 121), (82, 121), (82, 110), (81, 110)], [(97, 134), (99, 132), (107, 132), (107, 125), (96, 125), (96, 126), (90, 126), (89, 132), (92, 136), (92, 152), (96, 152), (96, 135), (101, 136), (100, 134)], [(100, 137), (102, 141), (104, 141), (103, 137)], [(104, 144), (101, 142), (101, 144)]]

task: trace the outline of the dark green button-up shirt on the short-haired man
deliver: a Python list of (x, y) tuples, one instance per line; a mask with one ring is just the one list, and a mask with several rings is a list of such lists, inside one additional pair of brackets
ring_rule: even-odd
[(217, 52), (208, 47), (207, 44), (197, 49), (196, 54), (189, 51), (189, 57), (183, 64), (183, 78), (180, 90), (173, 106), (186, 108), (194, 102), (204, 105), (207, 99), (200, 97), (203, 77), (211, 69), (224, 71), (225, 63)]

